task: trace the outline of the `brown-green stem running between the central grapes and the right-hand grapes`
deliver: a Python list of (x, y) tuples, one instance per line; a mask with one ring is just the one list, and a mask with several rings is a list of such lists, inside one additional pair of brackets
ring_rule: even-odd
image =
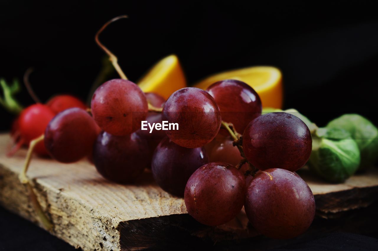
[(244, 153), (244, 150), (243, 150), (243, 147), (242, 147), (242, 140), (243, 140), (242, 136), (238, 132), (236, 132), (234, 125), (232, 125), (232, 123), (222, 121), (221, 126), (224, 129), (226, 129), (227, 132), (229, 133), (229, 135), (231, 135), (232, 139), (234, 139), (234, 142), (232, 142), (232, 144), (238, 148), (238, 150), (240, 152), (240, 156), (243, 157), (243, 159), (240, 160), (239, 164), (236, 165), (236, 168), (240, 169), (242, 167), (242, 165), (244, 165), (245, 163), (248, 163), (248, 170), (244, 173), (244, 175), (245, 176), (248, 176), (248, 175), (254, 176), (256, 174), (256, 172), (258, 171), (258, 169), (256, 167), (254, 167), (248, 161), (248, 159), (245, 156), (245, 153)]

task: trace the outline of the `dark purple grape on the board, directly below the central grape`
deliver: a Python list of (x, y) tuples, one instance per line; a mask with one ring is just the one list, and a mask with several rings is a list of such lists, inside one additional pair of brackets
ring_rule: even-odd
[(203, 147), (181, 147), (166, 137), (153, 153), (153, 178), (164, 191), (183, 197), (189, 177), (208, 162)]

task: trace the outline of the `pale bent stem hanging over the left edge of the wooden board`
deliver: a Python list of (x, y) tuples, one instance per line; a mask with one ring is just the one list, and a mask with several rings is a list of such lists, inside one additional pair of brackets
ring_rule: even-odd
[(38, 202), (37, 195), (33, 190), (33, 186), (31, 185), (29, 178), (26, 176), (26, 171), (28, 171), (29, 164), (31, 161), (31, 156), (33, 155), (33, 150), (39, 142), (43, 141), (44, 138), (45, 138), (45, 135), (42, 134), (38, 138), (35, 138), (32, 141), (30, 141), (28, 153), (26, 154), (25, 164), (22, 168), (21, 173), (19, 174), (19, 179), (20, 179), (20, 182), (22, 184), (25, 184), (26, 187), (28, 188), (29, 199), (34, 208), (34, 212), (39, 217), (40, 222), (42, 223), (43, 227), (46, 230), (50, 231), (53, 228), (53, 224), (50, 222), (45, 212), (43, 212), (42, 207), (40, 203)]

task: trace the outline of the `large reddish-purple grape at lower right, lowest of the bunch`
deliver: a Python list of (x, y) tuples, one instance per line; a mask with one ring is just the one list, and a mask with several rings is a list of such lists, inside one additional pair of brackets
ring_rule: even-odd
[(296, 173), (271, 168), (249, 183), (245, 212), (252, 226), (265, 236), (287, 239), (304, 233), (315, 216), (315, 200)]

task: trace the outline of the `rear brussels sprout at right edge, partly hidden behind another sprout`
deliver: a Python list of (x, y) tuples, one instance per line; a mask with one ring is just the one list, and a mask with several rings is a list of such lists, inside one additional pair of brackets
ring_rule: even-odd
[(378, 129), (372, 122), (358, 114), (345, 114), (330, 121), (327, 128), (347, 130), (356, 140), (361, 152), (359, 170), (374, 164), (378, 156)]

